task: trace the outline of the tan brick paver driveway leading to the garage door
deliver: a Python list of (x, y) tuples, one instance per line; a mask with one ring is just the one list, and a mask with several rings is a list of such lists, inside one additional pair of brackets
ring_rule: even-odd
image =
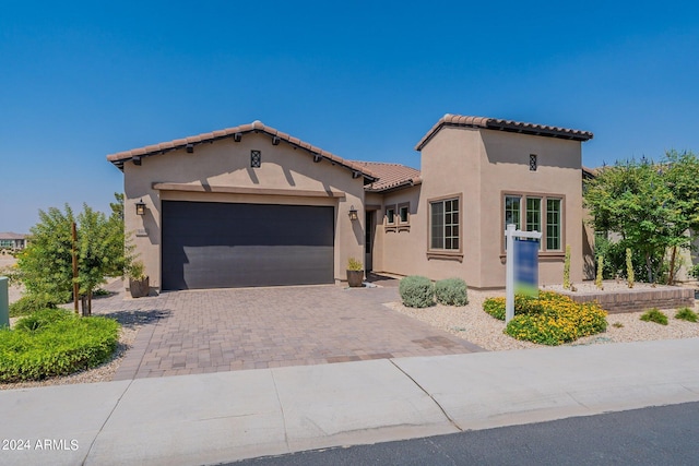
[(382, 306), (396, 300), (395, 287), (212, 289), (120, 294), (93, 313), (145, 322), (115, 380), (483, 350)]

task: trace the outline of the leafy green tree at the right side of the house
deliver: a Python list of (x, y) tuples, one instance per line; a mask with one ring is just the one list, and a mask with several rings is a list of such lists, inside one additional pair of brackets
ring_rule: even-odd
[[(699, 162), (691, 153), (668, 152), (663, 160), (629, 160), (602, 168), (587, 181), (584, 205), (596, 231), (614, 232), (640, 254), (654, 282), (671, 251), (691, 246), (699, 226)], [(673, 273), (668, 274), (672, 282)]]

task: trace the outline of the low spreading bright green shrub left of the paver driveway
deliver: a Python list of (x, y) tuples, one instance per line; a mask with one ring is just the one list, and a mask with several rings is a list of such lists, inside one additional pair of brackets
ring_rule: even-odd
[(0, 382), (67, 375), (111, 358), (119, 336), (116, 321), (52, 312), (34, 320), (38, 322), (35, 330), (0, 330)]

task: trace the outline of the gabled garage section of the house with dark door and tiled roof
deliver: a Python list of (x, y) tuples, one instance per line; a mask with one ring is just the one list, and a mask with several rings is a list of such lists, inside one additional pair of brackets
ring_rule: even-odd
[(153, 291), (335, 284), (364, 255), (364, 187), (378, 178), (260, 121), (107, 159)]

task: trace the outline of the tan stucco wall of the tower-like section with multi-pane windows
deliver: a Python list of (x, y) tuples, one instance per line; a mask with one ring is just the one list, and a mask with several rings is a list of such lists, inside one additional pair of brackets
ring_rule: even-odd
[[(530, 171), (529, 156), (538, 167)], [(417, 211), (410, 235), (384, 235), (386, 272), (420, 274), (433, 279), (461, 277), (475, 288), (505, 286), (505, 192), (564, 199), (561, 250), (540, 254), (540, 283), (562, 282), (565, 244), (572, 249), (571, 279), (582, 279), (581, 144), (576, 141), (484, 129), (441, 129), (422, 150)], [(388, 199), (410, 196), (407, 192)], [(461, 196), (462, 256), (427, 253), (429, 201)], [(412, 204), (411, 204), (412, 205)], [(414, 222), (413, 222), (414, 220)], [(416, 226), (417, 228), (415, 228)]]

